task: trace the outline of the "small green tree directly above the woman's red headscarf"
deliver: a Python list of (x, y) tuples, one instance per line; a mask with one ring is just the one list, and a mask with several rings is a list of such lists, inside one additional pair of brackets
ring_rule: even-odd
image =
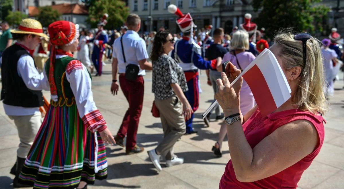
[(49, 24), (61, 20), (61, 14), (51, 7), (40, 7), (37, 15), (37, 20), (41, 22), (43, 27), (48, 27)]

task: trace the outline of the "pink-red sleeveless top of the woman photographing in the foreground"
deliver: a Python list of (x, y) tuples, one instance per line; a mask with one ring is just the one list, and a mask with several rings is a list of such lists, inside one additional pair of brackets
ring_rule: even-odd
[[(286, 110), (262, 117), (259, 109), (243, 124), (244, 133), (250, 146), (254, 148), (263, 138), (278, 127), (296, 120), (307, 120), (318, 132), (319, 142), (314, 151), (299, 162), (282, 170), (280, 173), (255, 182), (240, 182), (236, 179), (232, 160), (226, 165), (219, 188), (296, 188), (304, 170), (312, 163), (324, 142), (323, 117), (301, 110)], [(326, 122), (325, 122), (326, 123)]]

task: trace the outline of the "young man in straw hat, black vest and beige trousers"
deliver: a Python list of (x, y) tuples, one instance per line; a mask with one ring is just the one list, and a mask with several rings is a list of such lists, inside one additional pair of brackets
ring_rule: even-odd
[(18, 184), (18, 176), (42, 123), (39, 107), (44, 100), (41, 90), (50, 89), (47, 78), (43, 73), (39, 74), (29, 51), (41, 43), (41, 37), (49, 37), (43, 33), (41, 23), (34, 19), (22, 20), (18, 29), (11, 30), (11, 33), (18, 42), (2, 53), (1, 100), (5, 113), (14, 120), (20, 138), (17, 163), (15, 169), (11, 169), (15, 174), (13, 187), (23, 187)]

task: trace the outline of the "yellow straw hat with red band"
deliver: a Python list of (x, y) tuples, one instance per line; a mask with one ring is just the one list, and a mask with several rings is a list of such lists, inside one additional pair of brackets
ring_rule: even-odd
[(47, 35), (43, 33), (42, 24), (34, 19), (23, 19), (16, 30), (10, 30), (11, 33), (19, 34), (33, 34), (49, 39)]

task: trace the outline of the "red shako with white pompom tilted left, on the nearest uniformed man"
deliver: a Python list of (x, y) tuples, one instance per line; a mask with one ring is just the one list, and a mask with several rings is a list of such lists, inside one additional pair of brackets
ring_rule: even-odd
[(183, 33), (191, 32), (193, 27), (197, 27), (189, 12), (183, 14), (174, 4), (170, 4), (167, 9), (170, 13), (176, 14), (179, 17), (176, 19), (176, 23)]

